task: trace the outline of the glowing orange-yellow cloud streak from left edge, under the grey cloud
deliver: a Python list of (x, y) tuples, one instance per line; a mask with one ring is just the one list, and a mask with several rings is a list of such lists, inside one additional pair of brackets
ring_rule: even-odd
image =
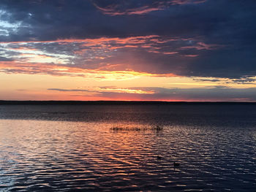
[(0, 61), (0, 72), (22, 74), (51, 74), (70, 77), (86, 77), (95, 80), (131, 80), (138, 77), (175, 77), (174, 74), (151, 74), (134, 71), (105, 71), (99, 69), (81, 69), (75, 66), (21, 63), (16, 61)]

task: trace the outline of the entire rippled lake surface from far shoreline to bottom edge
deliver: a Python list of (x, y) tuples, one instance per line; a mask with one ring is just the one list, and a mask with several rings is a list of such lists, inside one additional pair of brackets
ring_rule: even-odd
[(0, 106), (0, 191), (256, 191), (255, 151), (256, 105)]

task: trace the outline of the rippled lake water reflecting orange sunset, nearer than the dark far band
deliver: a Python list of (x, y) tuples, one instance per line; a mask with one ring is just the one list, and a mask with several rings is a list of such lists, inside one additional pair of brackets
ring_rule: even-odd
[(151, 124), (0, 120), (0, 191), (256, 188), (255, 128), (165, 125), (161, 131), (113, 131), (113, 126)]

